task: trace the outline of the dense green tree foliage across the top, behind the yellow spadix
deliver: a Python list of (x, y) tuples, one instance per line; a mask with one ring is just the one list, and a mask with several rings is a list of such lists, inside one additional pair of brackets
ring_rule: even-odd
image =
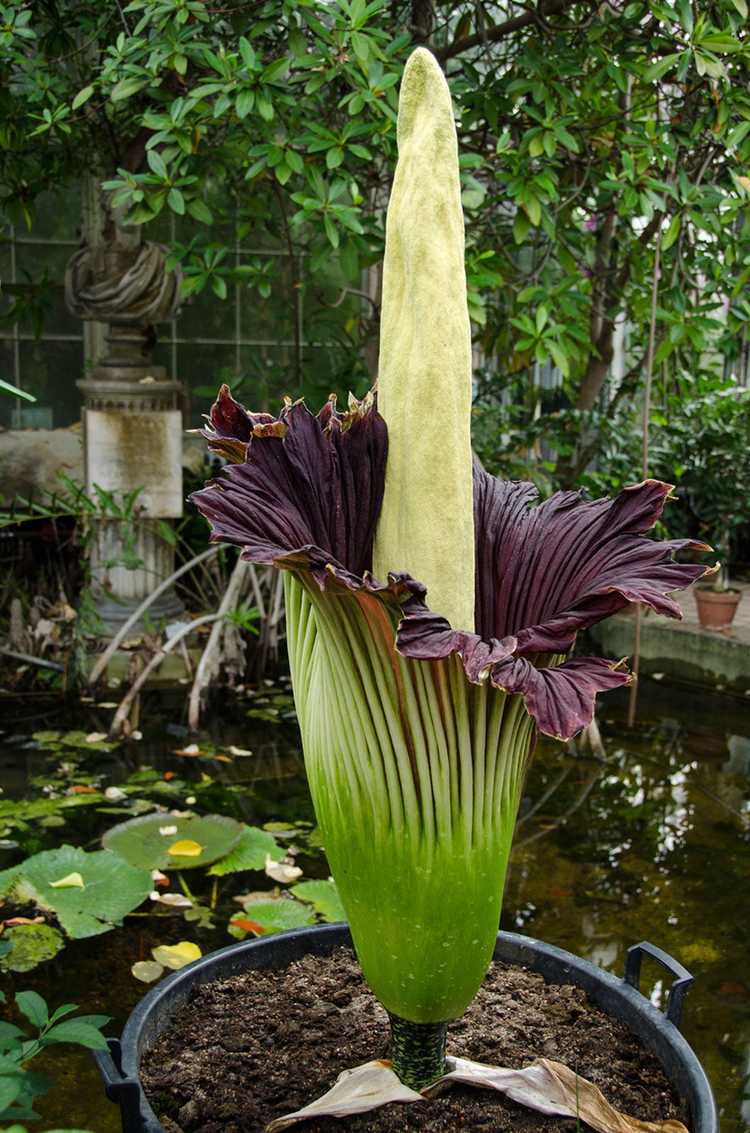
[[(518, 400), (520, 385), (523, 425), (539, 410), (543, 419), (593, 412), (580, 443), (606, 448), (613, 327), (629, 326), (632, 408), (657, 233), (657, 369), (698, 374), (721, 356), (731, 366), (742, 350), (745, 0), (697, 14), (633, 0), (593, 15), (574, 2), (564, 20), (528, 14), (512, 28), (500, 3), (426, 7), (457, 109), (475, 337), (495, 359), (485, 393), (491, 404), (509, 392)], [(221, 299), (239, 284), (264, 299), (282, 287), (291, 320), (304, 258), (313, 338), (334, 335), (341, 348), (326, 384), (357, 385), (377, 309), (342, 300), (382, 256), (397, 90), (412, 46), (406, 7), (262, 0), (252, 22), (239, 0), (219, 10), (205, 0), (133, 0), (121, 10), (116, 0), (66, 0), (34, 20), (25, 0), (11, 0), (5, 12), (6, 219), (32, 227), (36, 194), (77, 181), (85, 165), (147, 236), (163, 238), (162, 218), (177, 219), (170, 262), (182, 267), (186, 295)], [(231, 253), (236, 218), (240, 239), (263, 249), (241, 266)], [(280, 279), (279, 250), (291, 253), (289, 279)], [(552, 407), (530, 383), (535, 366), (562, 375)], [(279, 376), (290, 381), (288, 369)], [(261, 391), (266, 381), (252, 376)], [(571, 480), (578, 449), (554, 461)]]

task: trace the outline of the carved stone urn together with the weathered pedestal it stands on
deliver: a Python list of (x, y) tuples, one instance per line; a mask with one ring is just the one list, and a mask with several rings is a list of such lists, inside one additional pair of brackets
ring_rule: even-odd
[[(90, 562), (96, 608), (113, 631), (174, 569), (164, 521), (182, 514), (181, 385), (155, 366), (154, 325), (179, 306), (180, 274), (167, 271), (165, 249), (139, 228), (97, 233), (69, 261), (71, 314), (106, 324), (108, 349), (79, 381), (86, 489), (97, 501)], [(135, 504), (128, 496), (139, 489)], [(152, 623), (182, 611), (169, 589), (148, 610)], [(134, 625), (137, 632), (140, 619)]]

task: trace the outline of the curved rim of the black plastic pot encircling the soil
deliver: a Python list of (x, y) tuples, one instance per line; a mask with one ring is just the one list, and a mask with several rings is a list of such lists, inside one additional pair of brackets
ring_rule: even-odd
[[(305, 947), (310, 942), (314, 944), (313, 949)], [(189, 991), (194, 986), (212, 982), (211, 978), (202, 979), (201, 977), (206, 977), (218, 965), (222, 966), (222, 961), (227, 957), (240, 960), (240, 963), (232, 964), (225, 972), (213, 978), (229, 979), (247, 971), (248, 968), (241, 964), (241, 959), (254, 952), (262, 954), (265, 952), (271, 957), (274, 953), (278, 954), (280, 948), (282, 956), (285, 956), (283, 963), (262, 963), (252, 966), (281, 968), (306, 953), (309, 954), (310, 951), (314, 954), (326, 955), (341, 945), (352, 946), (349, 927), (344, 922), (315, 925), (287, 932), (274, 932), (272, 936), (242, 940), (239, 944), (230, 944), (216, 952), (207, 953), (152, 988), (128, 1016), (119, 1046), (121, 1060), (118, 1070), (122, 1079), (131, 1083), (130, 1088), (138, 1090), (144, 1133), (156, 1133), (156, 1131), (163, 1130), (140, 1085), (138, 1074), (140, 1058), (144, 1050), (151, 1046), (144, 1039), (153, 1033), (153, 1029), (148, 1025), (150, 1021), (164, 1014), (168, 1016), (172, 1014), (172, 1012), (160, 1008), (167, 1007), (176, 985), (187, 981)], [(660, 949), (653, 948), (650, 945), (634, 945), (629, 951), (637, 952), (639, 949), (641, 953), (648, 952), (656, 955), (663, 963), (668, 962), (667, 966), (673, 974), (687, 977), (687, 979), (682, 979), (683, 990), (692, 981), (692, 977)], [(571, 952), (518, 932), (500, 931), (497, 934), (493, 959), (505, 960), (538, 971), (545, 980), (552, 983), (570, 982), (582, 988), (595, 1006), (610, 1017), (623, 1022), (638, 1040), (656, 1055), (672, 1088), (681, 1098), (684, 1099), (685, 1090), (689, 1090), (690, 1133), (718, 1133), (716, 1102), (696, 1053), (679, 1028), (670, 1022), (666, 1015), (638, 990), (637, 986), (624, 978), (606, 972), (597, 964)], [(551, 971), (547, 971), (547, 968)], [(637, 969), (639, 971), (640, 962), (638, 962)], [(636, 979), (634, 982), (637, 985), (638, 980)], [(184, 1002), (186, 1000), (180, 1000), (173, 1010), (182, 1006)], [(610, 1010), (607, 1010), (608, 1007)], [(159, 1034), (161, 1031), (155, 1033)], [(100, 1058), (97, 1062), (100, 1062), (101, 1067)]]

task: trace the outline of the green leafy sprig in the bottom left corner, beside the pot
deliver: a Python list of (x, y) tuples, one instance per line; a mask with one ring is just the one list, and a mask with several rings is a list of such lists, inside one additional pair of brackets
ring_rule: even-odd
[[(0, 1003), (5, 999), (0, 993)], [(90, 1050), (106, 1050), (102, 1026), (109, 1022), (109, 1015), (70, 1019), (78, 1010), (75, 1003), (65, 1003), (50, 1015), (46, 1003), (36, 991), (18, 991), (15, 1000), (17, 1012), (31, 1024), (31, 1031), (26, 1025), (0, 1023), (0, 1122), (39, 1117), (33, 1108), (34, 1099), (46, 1093), (52, 1083), (46, 1075), (29, 1070), (28, 1063), (48, 1047), (67, 1042)], [(11, 1130), (20, 1130), (20, 1126), (12, 1125)], [(58, 1130), (57, 1133), (84, 1131)]]

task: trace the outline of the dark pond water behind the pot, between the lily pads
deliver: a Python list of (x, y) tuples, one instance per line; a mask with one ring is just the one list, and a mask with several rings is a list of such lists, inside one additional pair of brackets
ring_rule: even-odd
[[(96, 774), (104, 774), (105, 784), (117, 784), (148, 766), (155, 775), (150, 780), (146, 773), (144, 783), (167, 775), (176, 798), (195, 796), (199, 809), (252, 824), (289, 824), (287, 835), (299, 847), (297, 861), (305, 875), (325, 877), (298, 735), (293, 724), (283, 723), (283, 693), (276, 701), (281, 716), (273, 695), (269, 690), (270, 712), (257, 698), (232, 698), (231, 710), (215, 710), (198, 740), (203, 757), (174, 755), (188, 743), (182, 705), (152, 698), (143, 713), (144, 739), (101, 755)], [(683, 1031), (714, 1087), (722, 1128), (747, 1133), (750, 705), (645, 680), (633, 730), (624, 724), (625, 707), (619, 693), (602, 702), (604, 758), (554, 742), (539, 746), (526, 786), (502, 927), (540, 937), (616, 974), (627, 947), (642, 939), (681, 960), (696, 976)], [(29, 744), (31, 734), (42, 729), (105, 731), (111, 712), (92, 705), (84, 719), (80, 708), (74, 721), (67, 715), (46, 702), (15, 706), (12, 718), (6, 712), (0, 736), (6, 796), (39, 795), (45, 782), (59, 786), (60, 775), (84, 786), (91, 782), (91, 761), (76, 765), (65, 753)], [(231, 746), (253, 755), (235, 756)], [(216, 755), (223, 759), (216, 761)], [(62, 841), (95, 849), (101, 832), (121, 817), (92, 807), (68, 812), (65, 827), (32, 824), (23, 834), (24, 849), (29, 853)], [(0, 852), (0, 868), (18, 859), (12, 847)], [(231, 943), (227, 921), (238, 909), (232, 897), (273, 884), (262, 874), (236, 876), (218, 896), (213, 927), (186, 925), (173, 911), (128, 917), (122, 929), (74, 942), (33, 972), (3, 977), (3, 988), (12, 994), (32, 987), (52, 1005), (77, 1002), (86, 1012), (108, 1013), (113, 1016), (110, 1033), (117, 1033), (145, 991), (130, 974), (135, 961), (147, 959), (156, 943), (193, 939), (204, 953)], [(663, 1005), (668, 990), (664, 973), (645, 965), (644, 982)], [(60, 1048), (44, 1068), (56, 1087), (40, 1104), (43, 1121), (34, 1127), (117, 1133), (117, 1110), (103, 1098), (88, 1055)]]

